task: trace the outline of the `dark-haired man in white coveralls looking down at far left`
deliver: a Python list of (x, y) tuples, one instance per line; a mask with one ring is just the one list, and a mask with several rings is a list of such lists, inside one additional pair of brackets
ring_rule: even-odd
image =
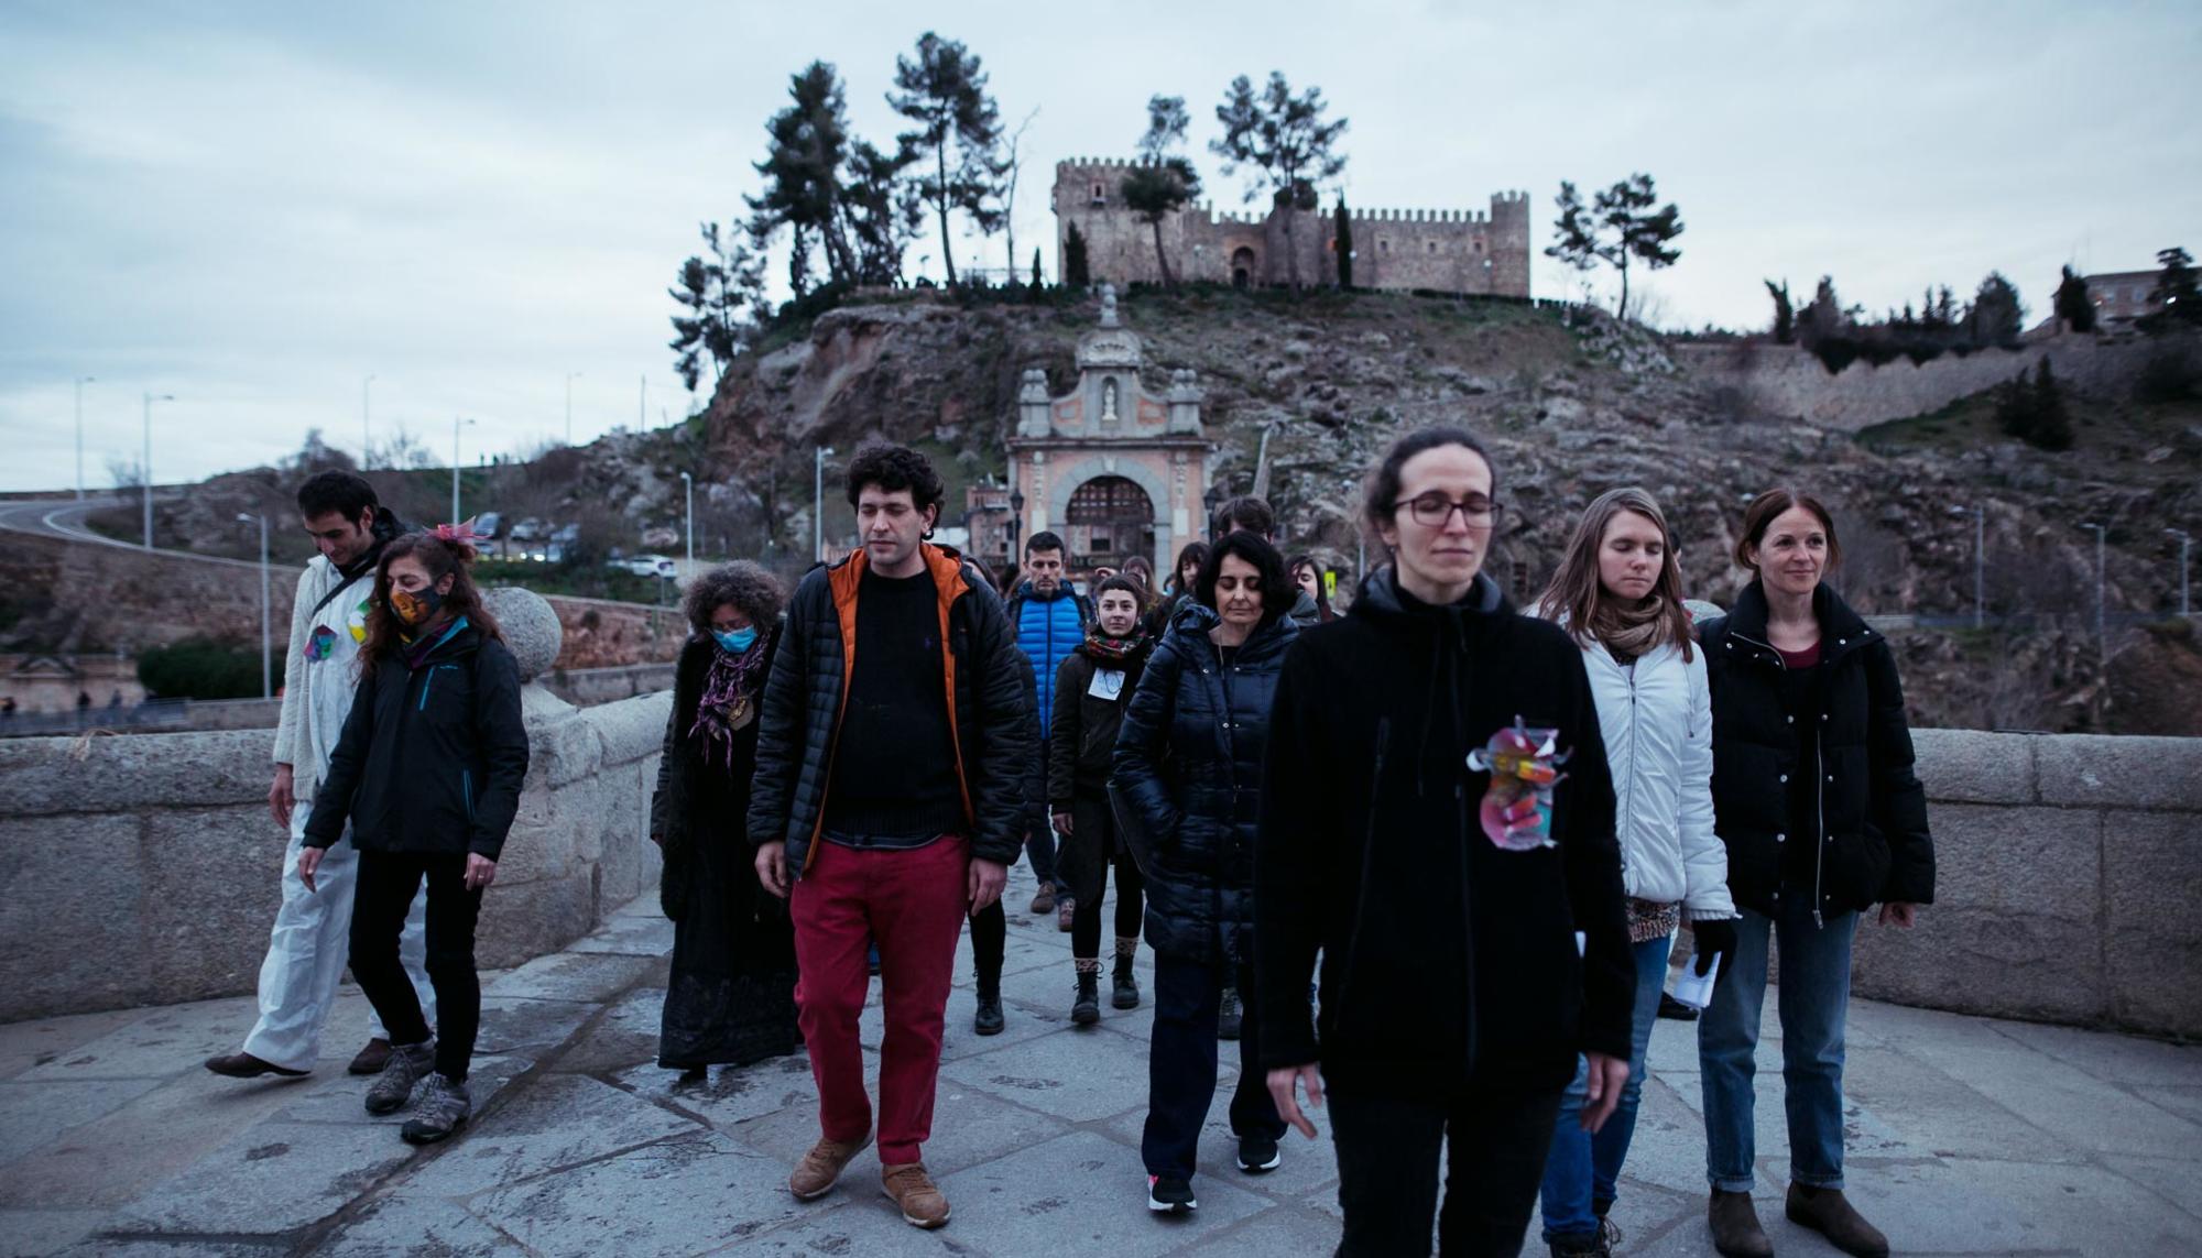
[[(348, 471), (326, 471), (297, 490), (297, 510), (321, 550), (306, 563), (291, 609), (291, 653), (284, 658), (282, 724), (275, 728), (275, 785), (269, 809), (291, 831), (282, 860), (282, 908), (269, 935), (269, 957), (260, 963), (260, 1020), (236, 1053), (207, 1058), (218, 1075), (302, 1075), (321, 1056), (321, 1025), (337, 998), (337, 979), (350, 952), (352, 884), (359, 853), (346, 842), (328, 849), (315, 873), (317, 891), (297, 875), (297, 849), (321, 785), (328, 757), (337, 750), (344, 717), (359, 688), (359, 644), (366, 638), (368, 600), (374, 596), (374, 565), (383, 543), (399, 534), (399, 521), (370, 486)], [(423, 961), (423, 900), (405, 917), (399, 954), (421, 994), (421, 1012), (436, 1020), (436, 990)], [(355, 1075), (372, 1075), (390, 1060), (390, 1036), (372, 1014), (368, 1047), (352, 1058)]]

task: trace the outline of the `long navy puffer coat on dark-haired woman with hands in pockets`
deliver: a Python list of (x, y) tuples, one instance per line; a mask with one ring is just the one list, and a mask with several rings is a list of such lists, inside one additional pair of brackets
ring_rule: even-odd
[(1123, 715), (1110, 785), (1147, 840), (1147, 943), (1180, 961), (1251, 963), (1268, 708), (1299, 629), (1262, 625), (1227, 669), (1209, 640), (1220, 622), (1200, 603), (1178, 609)]

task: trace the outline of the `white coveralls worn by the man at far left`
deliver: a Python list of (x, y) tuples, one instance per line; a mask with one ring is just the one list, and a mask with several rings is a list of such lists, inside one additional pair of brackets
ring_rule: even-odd
[[(359, 851), (350, 827), (315, 871), (317, 891), (297, 875), (297, 851), (306, 838), (313, 794), (328, 772), (328, 757), (344, 735), (344, 717), (359, 688), (359, 644), (366, 638), (372, 570), (344, 583), (326, 556), (315, 556), (297, 581), (291, 611), (291, 653), (284, 677), (282, 724), (275, 730), (275, 763), (288, 763), (297, 805), (291, 809), (291, 842), (282, 858), (282, 908), (269, 933), (269, 954), (260, 963), (260, 1020), (244, 1036), (244, 1051), (291, 1071), (313, 1069), (321, 1056), (321, 1027), (337, 1001), (337, 979), (350, 957), (352, 886)], [(319, 605), (319, 611), (315, 607)], [(425, 897), (416, 895), (399, 937), (405, 974), (421, 994), (421, 1014), (436, 1023), (436, 990), (423, 970)], [(370, 1036), (388, 1038), (381, 1018), (368, 1014)]]

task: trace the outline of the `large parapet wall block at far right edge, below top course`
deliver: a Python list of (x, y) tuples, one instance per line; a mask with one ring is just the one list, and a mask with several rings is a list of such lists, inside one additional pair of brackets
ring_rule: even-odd
[(2118, 1023), (2202, 1036), (2202, 814), (2103, 814), (2103, 878)]

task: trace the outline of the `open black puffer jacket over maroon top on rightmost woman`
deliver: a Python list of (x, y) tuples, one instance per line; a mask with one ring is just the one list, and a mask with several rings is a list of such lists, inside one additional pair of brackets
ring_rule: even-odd
[(1821, 915), (1931, 904), (1927, 790), (1911, 768), (1896, 653), (1828, 585), (1812, 592), (1812, 616), (1821, 708), (1812, 761), (1781, 702), (1786, 664), (1766, 636), (1766, 587), (1753, 581), (1726, 616), (1698, 629), (1713, 688), (1713, 816), (1729, 845), (1729, 891), (1740, 908), (1775, 913), (1786, 845), (1814, 842), (1788, 834), (1788, 783), (1812, 774), (1806, 781), (1819, 783), (1819, 860), (1812, 884), (1790, 893), (1812, 895)]

